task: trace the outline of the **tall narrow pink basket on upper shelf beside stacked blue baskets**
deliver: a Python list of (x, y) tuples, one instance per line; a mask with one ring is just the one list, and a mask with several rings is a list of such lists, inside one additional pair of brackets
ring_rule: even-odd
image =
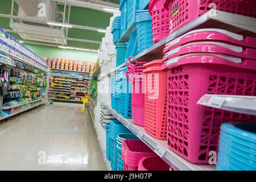
[(148, 12), (152, 16), (153, 43), (169, 35), (169, 11), (163, 6), (163, 0), (150, 1)]

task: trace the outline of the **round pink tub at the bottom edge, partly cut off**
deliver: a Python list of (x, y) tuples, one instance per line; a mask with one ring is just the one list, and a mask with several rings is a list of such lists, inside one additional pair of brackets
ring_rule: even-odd
[(139, 161), (138, 171), (170, 171), (170, 166), (158, 155), (147, 156)]

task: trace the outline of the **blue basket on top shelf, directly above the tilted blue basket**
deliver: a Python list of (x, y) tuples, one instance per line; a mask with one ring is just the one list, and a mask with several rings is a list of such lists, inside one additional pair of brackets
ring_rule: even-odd
[(139, 0), (127, 0), (127, 28), (134, 23), (137, 10), (139, 10)]

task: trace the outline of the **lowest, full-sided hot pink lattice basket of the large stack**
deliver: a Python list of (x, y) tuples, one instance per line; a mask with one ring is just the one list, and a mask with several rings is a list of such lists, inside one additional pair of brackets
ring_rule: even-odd
[[(168, 64), (170, 63), (170, 64)], [(167, 143), (192, 163), (208, 164), (218, 151), (224, 122), (256, 122), (252, 115), (197, 105), (204, 94), (256, 96), (256, 61), (234, 63), (216, 55), (190, 55), (168, 60)]]

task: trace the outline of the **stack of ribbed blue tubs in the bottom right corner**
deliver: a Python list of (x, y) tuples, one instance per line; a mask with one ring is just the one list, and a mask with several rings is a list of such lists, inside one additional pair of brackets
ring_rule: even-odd
[(216, 170), (256, 170), (256, 123), (221, 125)]

